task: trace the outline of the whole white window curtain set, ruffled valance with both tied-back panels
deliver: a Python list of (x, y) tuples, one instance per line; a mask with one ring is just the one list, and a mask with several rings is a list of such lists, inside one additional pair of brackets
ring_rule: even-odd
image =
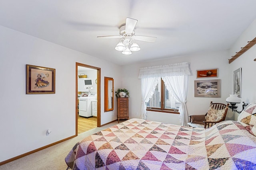
[[(166, 83), (166, 88), (171, 90), (176, 99), (181, 103), (179, 108), (180, 123), (187, 125), (188, 111), (186, 107), (188, 75), (190, 75), (189, 63), (175, 63), (161, 66), (151, 66), (140, 68), (139, 78), (141, 79), (142, 107), (141, 118), (146, 119), (146, 104), (152, 97), (157, 78), (162, 77)], [(155, 82), (156, 81), (156, 82)]]

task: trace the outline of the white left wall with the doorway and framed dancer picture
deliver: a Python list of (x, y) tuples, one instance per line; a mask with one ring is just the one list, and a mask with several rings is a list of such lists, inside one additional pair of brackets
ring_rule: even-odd
[[(120, 79), (120, 66), (2, 26), (0, 37), (0, 162), (75, 135), (76, 62), (101, 68), (101, 123), (116, 119), (104, 76)], [(26, 94), (26, 64), (55, 68), (56, 94)]]

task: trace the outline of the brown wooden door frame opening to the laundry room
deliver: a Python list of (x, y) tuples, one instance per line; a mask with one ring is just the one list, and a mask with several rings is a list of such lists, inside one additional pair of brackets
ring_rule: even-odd
[(77, 101), (77, 96), (78, 96), (78, 66), (83, 66), (87, 68), (92, 68), (97, 70), (97, 127), (101, 127), (101, 115), (100, 115), (100, 68), (95, 67), (95, 66), (90, 66), (82, 63), (77, 63), (76, 62), (76, 136), (78, 135), (78, 117), (77, 117), (77, 110), (78, 110), (78, 101)]

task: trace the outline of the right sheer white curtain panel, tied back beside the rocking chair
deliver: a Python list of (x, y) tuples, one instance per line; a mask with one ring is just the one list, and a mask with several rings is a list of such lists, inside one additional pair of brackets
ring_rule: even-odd
[(188, 75), (182, 76), (165, 76), (163, 77), (167, 90), (172, 91), (175, 98), (181, 103), (179, 108), (180, 123), (187, 126), (188, 110), (186, 106), (186, 98), (188, 94)]

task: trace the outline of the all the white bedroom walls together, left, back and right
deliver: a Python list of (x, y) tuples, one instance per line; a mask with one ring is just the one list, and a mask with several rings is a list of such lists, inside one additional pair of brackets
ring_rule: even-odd
[[(225, 99), (232, 92), (233, 71), (239, 67), (242, 67), (242, 101), (256, 100), (256, 62), (253, 61), (256, 58), (256, 45), (228, 64), (231, 55), (256, 37), (255, 30), (256, 21), (230, 51), (193, 54), (121, 68), (116, 64), (0, 26), (0, 162), (75, 134), (76, 62), (101, 68), (101, 124), (117, 117), (116, 109), (114, 116), (112, 111), (104, 113), (104, 76), (114, 78), (114, 91), (117, 88), (129, 90), (130, 118), (139, 118), (142, 100), (138, 70), (146, 66), (184, 61), (191, 63), (192, 75), (189, 76), (187, 98), (189, 115), (204, 114), (210, 101), (225, 103)], [(26, 64), (55, 68), (56, 94), (26, 94)], [(196, 79), (196, 70), (208, 68), (219, 68), (219, 77), (212, 79), (221, 79), (221, 98), (194, 97), (194, 80), (201, 80)], [(148, 112), (148, 119), (180, 124), (177, 114)], [(46, 136), (48, 128), (52, 129), (52, 133)]]

